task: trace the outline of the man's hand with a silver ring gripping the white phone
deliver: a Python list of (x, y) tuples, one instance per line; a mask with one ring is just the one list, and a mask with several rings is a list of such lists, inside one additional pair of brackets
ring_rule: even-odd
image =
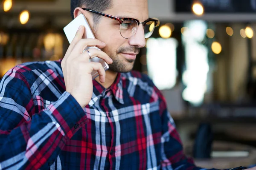
[[(83, 39), (85, 28), (79, 28), (61, 62), (61, 68), (66, 91), (84, 108), (89, 104), (93, 94), (92, 72), (96, 71), (99, 74), (99, 81), (104, 83), (105, 69), (100, 62), (89, 61), (88, 53), (83, 51), (86, 47), (104, 48), (105, 44), (96, 39)], [(90, 48), (89, 51), (92, 59), (97, 56), (108, 64), (112, 63), (112, 59), (105, 52), (95, 48)]]

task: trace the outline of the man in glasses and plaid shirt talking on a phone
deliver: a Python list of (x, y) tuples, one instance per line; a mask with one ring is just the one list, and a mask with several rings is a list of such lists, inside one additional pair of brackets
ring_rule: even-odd
[[(160, 91), (131, 71), (153, 31), (143, 26), (157, 24), (147, 7), (147, 0), (71, 0), (73, 16), (84, 14), (97, 40), (82, 39), (80, 27), (63, 60), (17, 65), (3, 77), (0, 170), (200, 169), (183, 154)], [(102, 51), (83, 53), (87, 46)], [(95, 56), (110, 69), (89, 62)]]

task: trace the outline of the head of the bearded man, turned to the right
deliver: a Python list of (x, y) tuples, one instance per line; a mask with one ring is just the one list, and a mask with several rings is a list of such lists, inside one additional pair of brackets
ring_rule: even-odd
[(132, 70), (136, 55), (145, 46), (142, 24), (136, 33), (125, 39), (120, 34), (120, 23), (108, 17), (85, 11), (81, 8), (104, 12), (116, 17), (134, 18), (143, 22), (148, 19), (147, 0), (71, 0), (71, 13), (77, 17), (83, 13), (93, 28), (96, 39), (106, 43), (102, 49), (113, 60), (109, 70), (129, 72)]

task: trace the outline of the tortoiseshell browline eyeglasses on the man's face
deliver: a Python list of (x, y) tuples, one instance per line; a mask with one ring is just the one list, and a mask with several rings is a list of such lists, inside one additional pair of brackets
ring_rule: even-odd
[(108, 18), (111, 18), (113, 20), (119, 21), (119, 23), (120, 23), (120, 34), (125, 39), (128, 39), (128, 38), (134, 36), (134, 34), (137, 32), (138, 26), (140, 24), (143, 25), (145, 38), (149, 38), (153, 34), (154, 28), (156, 26), (159, 26), (159, 20), (155, 20), (153, 18), (148, 18), (144, 22), (140, 23), (139, 20), (136, 20), (136, 19), (133, 19), (133, 18), (119, 18), (119, 17), (115, 17), (115, 16), (112, 16), (112, 15), (104, 14), (102, 12), (93, 11), (93, 10), (87, 9), (87, 8), (82, 8), (82, 9), (85, 10), (85, 11), (90, 11), (90, 12), (93, 12), (95, 14), (99, 14), (99, 15), (102, 15), (104, 17), (108, 17)]

